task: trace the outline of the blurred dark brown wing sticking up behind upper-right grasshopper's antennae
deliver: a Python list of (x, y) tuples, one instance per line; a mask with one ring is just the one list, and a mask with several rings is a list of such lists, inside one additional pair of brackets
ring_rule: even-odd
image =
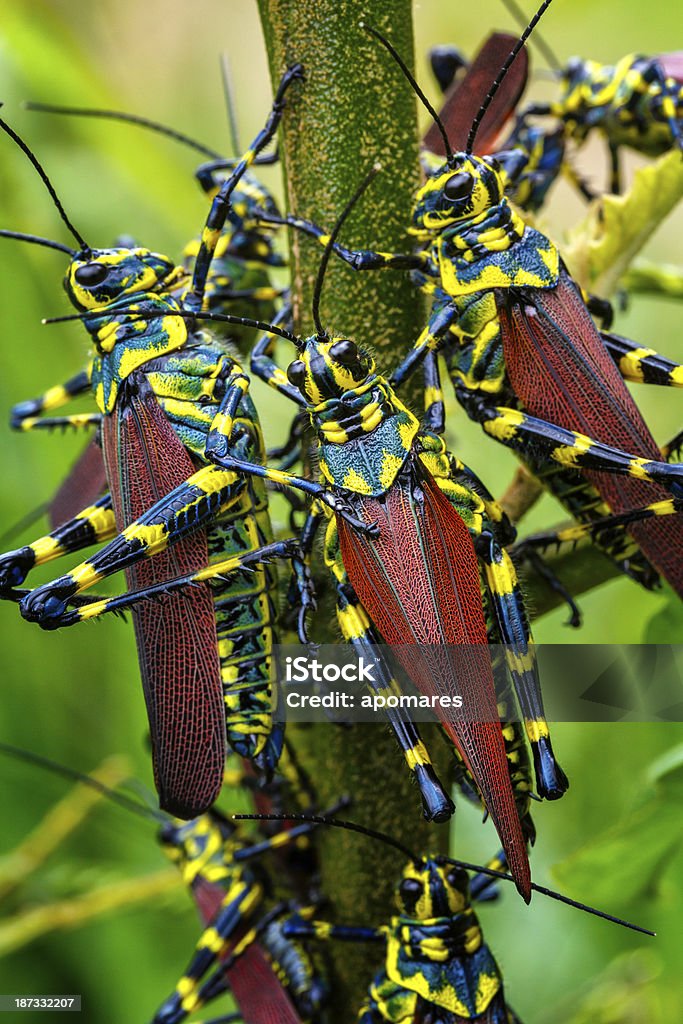
[[(465, 148), (472, 122), (516, 42), (517, 36), (508, 35), (506, 32), (495, 32), (477, 53), (465, 77), (446, 92), (439, 117), (451, 145), (456, 152)], [(497, 137), (524, 91), (527, 74), (528, 54), (522, 47), (484, 115), (477, 132), (476, 153), (493, 152)], [(443, 142), (436, 125), (431, 125), (425, 132), (422, 144), (430, 153), (441, 153)]]

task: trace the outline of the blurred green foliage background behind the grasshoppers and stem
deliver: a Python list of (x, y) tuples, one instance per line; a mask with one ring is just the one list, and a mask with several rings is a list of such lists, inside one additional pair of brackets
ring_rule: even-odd
[[(357, 6), (361, 16), (364, 4)], [(655, 0), (647, 5), (646, 15), (639, 0), (557, 0), (543, 31), (561, 58), (580, 53), (606, 62), (635, 49), (656, 53), (680, 44), (680, 5)], [(434, 99), (425, 59), (429, 46), (452, 41), (471, 54), (489, 30), (512, 25), (498, 0), (477, 5), (422, 0), (416, 4), (415, 20), (418, 73)], [(129, 110), (227, 151), (218, 73), (221, 50), (230, 59), (246, 142), (260, 127), (270, 98), (251, 0), (99, 0), (89, 5), (5, 0), (0, 23), (3, 117), (35, 148), (76, 225), (93, 245), (106, 246), (125, 231), (153, 249), (179, 255), (206, 215), (205, 200), (191, 179), (195, 158), (133, 128), (31, 114), (22, 109), (22, 100)], [(543, 67), (539, 59), (535, 65)], [(535, 78), (531, 88), (541, 97), (553, 86)], [(26, 159), (7, 138), (0, 139), (0, 225), (69, 243)], [(630, 169), (638, 163), (638, 158), (628, 161)], [(579, 166), (596, 184), (604, 181), (602, 145), (591, 143)], [(278, 193), (278, 170), (265, 170), (263, 177)], [(581, 215), (580, 201), (559, 186), (544, 223), (561, 240)], [(681, 223), (680, 215), (672, 218), (645, 254), (683, 262)], [(60, 288), (61, 256), (18, 243), (0, 245), (2, 424), (12, 403), (80, 369), (86, 342), (76, 325), (48, 328), (39, 323), (41, 316), (68, 311)], [(680, 354), (679, 323), (675, 303), (635, 298), (629, 311), (620, 314), (616, 329), (675, 357)], [(262, 393), (256, 386), (257, 400)], [(641, 389), (638, 398), (658, 439), (679, 429), (676, 393)], [(265, 427), (272, 441), (281, 436), (287, 411), (272, 400), (268, 409), (272, 413)], [(452, 414), (451, 439), (459, 455), (500, 493), (511, 478), (513, 460), (500, 446), (485, 443), (462, 414)], [(0, 530), (51, 495), (83, 445), (75, 435), (19, 436), (4, 428), (1, 436)], [(558, 517), (552, 502), (544, 500), (528, 516), (528, 526), (550, 524)], [(40, 577), (36, 573), (35, 582), (52, 574), (48, 567)], [(584, 642), (683, 639), (680, 614), (664, 592), (649, 595), (616, 581), (581, 603)], [(0, 606), (0, 738), (81, 769), (94, 767), (105, 754), (125, 752), (136, 776), (150, 784), (130, 627), (108, 621), (45, 634), (24, 623), (10, 605)], [(565, 617), (560, 609), (539, 621), (537, 639), (574, 641), (563, 626)], [(366, 728), (372, 741), (371, 727)], [(542, 806), (535, 813), (540, 833), (535, 877), (552, 884), (553, 865), (575, 854), (562, 874), (573, 896), (659, 934), (654, 941), (641, 941), (544, 904), (539, 897), (525, 909), (508, 893), (501, 906), (486, 908), (482, 916), (510, 1001), (527, 1024), (678, 1020), (683, 1006), (683, 905), (676, 885), (682, 866), (680, 772), (672, 770), (655, 785), (648, 770), (655, 759), (683, 742), (683, 728), (566, 724), (555, 734), (571, 790), (561, 805)], [(66, 788), (59, 779), (3, 760), (2, 852), (11, 850)], [(490, 829), (482, 830), (468, 809), (459, 815), (457, 830), (459, 853), (483, 858), (490, 852)], [(160, 869), (165, 862), (153, 831), (114, 807), (98, 808), (87, 827), (6, 901), (5, 921), (22, 908)], [(1, 868), (0, 861), (0, 879)], [(46, 932), (0, 959), (0, 992), (80, 992), (88, 1022), (144, 1021), (175, 983), (198, 932), (189, 900), (178, 890), (162, 901), (113, 912), (78, 930)], [(22, 1019), (34, 1016), (32, 1014)]]

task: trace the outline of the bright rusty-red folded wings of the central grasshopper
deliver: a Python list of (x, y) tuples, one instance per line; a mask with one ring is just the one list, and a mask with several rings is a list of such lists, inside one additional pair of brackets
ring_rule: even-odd
[[(530, 876), (498, 719), (481, 605), (479, 566), (465, 523), (420, 466), (381, 499), (354, 505), (378, 538), (338, 519), (348, 578), (384, 640), (428, 696), (462, 695), (462, 709), (436, 706), (443, 728), (476, 780), (528, 901)], [(473, 711), (479, 721), (471, 721)]]

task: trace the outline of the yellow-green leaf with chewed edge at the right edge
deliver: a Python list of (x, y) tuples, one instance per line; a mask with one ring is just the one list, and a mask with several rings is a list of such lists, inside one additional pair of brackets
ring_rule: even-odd
[(652, 232), (683, 199), (678, 150), (642, 167), (625, 196), (603, 196), (570, 232), (563, 256), (577, 281), (609, 295)]

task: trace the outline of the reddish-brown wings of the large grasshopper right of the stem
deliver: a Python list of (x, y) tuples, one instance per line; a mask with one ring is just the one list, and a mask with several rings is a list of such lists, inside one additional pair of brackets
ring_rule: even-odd
[[(532, 416), (659, 460), (659, 450), (607, 353), (581, 296), (563, 271), (558, 286), (521, 300), (497, 293), (512, 388)], [(658, 484), (582, 470), (610, 509), (626, 512), (669, 497)], [(683, 522), (679, 516), (634, 523), (629, 532), (683, 595)]]

